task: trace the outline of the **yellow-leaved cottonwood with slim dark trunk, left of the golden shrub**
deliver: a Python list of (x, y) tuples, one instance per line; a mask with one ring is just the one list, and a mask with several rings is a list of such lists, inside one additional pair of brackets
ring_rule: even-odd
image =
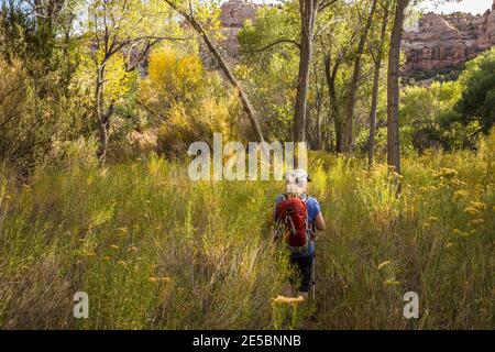
[[(94, 114), (98, 124), (98, 157), (105, 163), (111, 118), (119, 102), (116, 89), (125, 89), (125, 73), (135, 70), (150, 50), (163, 41), (184, 40), (168, 7), (161, 0), (91, 0), (87, 38), (95, 75)], [(110, 85), (121, 76), (121, 84)]]

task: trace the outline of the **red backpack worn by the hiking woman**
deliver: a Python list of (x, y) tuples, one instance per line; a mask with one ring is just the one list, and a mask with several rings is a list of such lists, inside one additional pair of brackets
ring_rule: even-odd
[(286, 195), (275, 209), (275, 219), (278, 229), (282, 229), (293, 253), (307, 253), (310, 243), (310, 229), (308, 224), (308, 209), (306, 202), (298, 197), (288, 198)]

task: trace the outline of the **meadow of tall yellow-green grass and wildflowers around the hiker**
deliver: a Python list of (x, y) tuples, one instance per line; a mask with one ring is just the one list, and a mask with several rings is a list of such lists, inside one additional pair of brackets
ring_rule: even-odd
[[(276, 299), (292, 275), (268, 218), (280, 182), (190, 182), (157, 156), (75, 160), (25, 184), (0, 173), (3, 329), (493, 329), (495, 134), (476, 152), (385, 164), (310, 155), (327, 230), (316, 300)], [(76, 292), (89, 318), (75, 319)], [(419, 319), (403, 296), (419, 295)]]

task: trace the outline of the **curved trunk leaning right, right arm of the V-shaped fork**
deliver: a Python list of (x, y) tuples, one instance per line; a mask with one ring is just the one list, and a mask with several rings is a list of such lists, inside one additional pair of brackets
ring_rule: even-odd
[(373, 16), (376, 10), (376, 2), (377, 0), (373, 0), (372, 2), (370, 15), (367, 16), (366, 24), (363, 29), (363, 33), (361, 34), (360, 42), (358, 44), (358, 52), (354, 58), (352, 76), (351, 80), (349, 81), (348, 100), (345, 106), (345, 121), (343, 129), (343, 152), (345, 155), (350, 155), (352, 153), (352, 124), (354, 119), (354, 106), (355, 106), (358, 82), (360, 80), (361, 75), (361, 57), (363, 56), (364, 44), (366, 44), (367, 34), (370, 33), (370, 29), (373, 23)]

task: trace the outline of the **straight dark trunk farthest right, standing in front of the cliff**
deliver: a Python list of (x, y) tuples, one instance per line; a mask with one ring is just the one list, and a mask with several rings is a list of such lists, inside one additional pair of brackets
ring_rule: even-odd
[(400, 42), (403, 38), (403, 26), (405, 11), (409, 0), (398, 0), (394, 26), (391, 34), (391, 48), (388, 54), (387, 76), (387, 163), (397, 174), (400, 174), (400, 144), (399, 144), (399, 64)]

